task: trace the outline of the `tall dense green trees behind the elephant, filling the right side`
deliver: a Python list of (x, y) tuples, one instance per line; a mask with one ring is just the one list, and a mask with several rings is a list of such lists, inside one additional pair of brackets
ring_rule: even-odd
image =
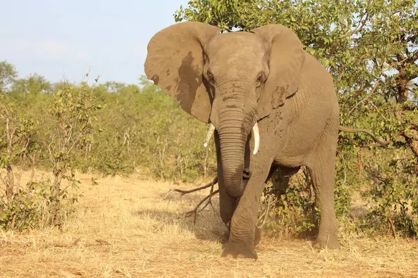
[(334, 77), (341, 123), (371, 129), (396, 147), (376, 149), (364, 134), (341, 133), (339, 216), (345, 218), (350, 193), (359, 190), (376, 204), (368, 218), (385, 223), (380, 227), (392, 234), (417, 236), (417, 10), (412, 0), (194, 0), (174, 17), (224, 32), (265, 24), (295, 31)]

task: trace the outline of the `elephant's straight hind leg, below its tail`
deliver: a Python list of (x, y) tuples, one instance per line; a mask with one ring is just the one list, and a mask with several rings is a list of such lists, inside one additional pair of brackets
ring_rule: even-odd
[(320, 223), (315, 247), (339, 249), (338, 222), (335, 215), (336, 136), (325, 136), (316, 146), (307, 166), (314, 183), (316, 204), (320, 209)]

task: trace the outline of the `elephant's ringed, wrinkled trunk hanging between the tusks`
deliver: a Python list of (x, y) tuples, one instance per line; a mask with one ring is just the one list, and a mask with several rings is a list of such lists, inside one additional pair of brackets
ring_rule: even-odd
[[(240, 197), (245, 189), (242, 182), (245, 145), (257, 120), (256, 100), (251, 95), (248, 90), (237, 92), (237, 88), (222, 90), (212, 108), (211, 120), (219, 134), (225, 189), (234, 198)], [(258, 126), (254, 127), (254, 139), (257, 141), (259, 136), (256, 133)]]

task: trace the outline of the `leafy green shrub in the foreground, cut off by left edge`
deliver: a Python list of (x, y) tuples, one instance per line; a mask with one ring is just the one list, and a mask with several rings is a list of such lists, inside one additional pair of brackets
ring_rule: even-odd
[(21, 186), (24, 167), (29, 161), (33, 166), (38, 150), (33, 141), (37, 123), (0, 99), (0, 169), (5, 170), (0, 174), (0, 229), (25, 230), (36, 225), (38, 208), (45, 200), (38, 202), (32, 196), (33, 175), (26, 187)]

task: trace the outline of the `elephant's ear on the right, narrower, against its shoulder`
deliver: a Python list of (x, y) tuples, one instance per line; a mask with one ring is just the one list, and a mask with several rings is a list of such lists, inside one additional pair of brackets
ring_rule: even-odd
[(297, 35), (280, 24), (270, 24), (251, 30), (270, 44), (270, 74), (258, 99), (258, 116), (270, 114), (272, 108), (284, 104), (286, 97), (297, 92), (305, 51)]

